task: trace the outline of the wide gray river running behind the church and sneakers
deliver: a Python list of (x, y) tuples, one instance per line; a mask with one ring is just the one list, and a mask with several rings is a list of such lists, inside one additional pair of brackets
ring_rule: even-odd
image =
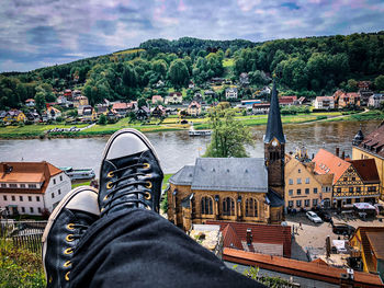
[[(371, 133), (380, 122), (334, 122), (284, 125), (285, 151), (305, 143), (309, 155), (336, 147), (351, 154), (351, 141), (362, 126), (363, 134)], [(256, 145), (248, 147), (251, 157), (263, 157), (262, 136), (266, 126), (251, 127)], [(210, 137), (189, 137), (188, 131), (150, 133), (146, 135), (155, 146), (165, 173), (174, 173), (187, 164), (194, 164), (202, 155)], [(108, 138), (0, 140), (0, 161), (48, 161), (56, 166), (93, 168), (99, 173), (102, 151)]]

